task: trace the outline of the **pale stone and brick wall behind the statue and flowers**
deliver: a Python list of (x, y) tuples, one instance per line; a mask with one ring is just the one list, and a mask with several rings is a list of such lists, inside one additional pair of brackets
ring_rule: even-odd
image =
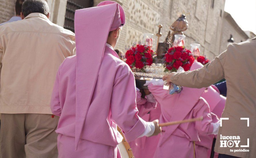
[[(94, 1), (97, 5), (101, 0)], [(126, 14), (126, 24), (116, 48), (125, 51), (134, 42), (142, 41), (143, 33), (156, 34), (158, 25), (162, 24), (162, 37), (165, 40), (169, 27), (182, 13), (189, 22), (185, 46), (189, 49), (190, 43), (201, 45), (201, 55), (213, 59), (219, 55), (219, 40), (221, 37), (222, 17), (225, 0), (215, 0), (211, 7), (211, 0), (116, 0)], [(154, 36), (154, 48), (157, 37)]]

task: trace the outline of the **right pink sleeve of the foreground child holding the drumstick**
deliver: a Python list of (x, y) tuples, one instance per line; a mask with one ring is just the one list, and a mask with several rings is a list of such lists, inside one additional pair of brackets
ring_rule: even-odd
[(123, 130), (128, 142), (145, 131), (146, 122), (137, 115), (135, 79), (131, 71), (114, 81), (110, 105), (111, 119)]

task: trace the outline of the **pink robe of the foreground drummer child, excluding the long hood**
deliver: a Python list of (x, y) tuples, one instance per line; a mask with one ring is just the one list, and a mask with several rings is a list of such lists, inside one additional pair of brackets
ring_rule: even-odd
[[(57, 73), (52, 93), (51, 110), (54, 115), (60, 116), (56, 132), (64, 138), (60, 140), (61, 137), (58, 137), (58, 145), (74, 144), (75, 141), (76, 60), (77, 56), (64, 60)], [(123, 130), (128, 142), (135, 140), (146, 128), (146, 122), (138, 117), (137, 113), (133, 73), (129, 66), (118, 58), (116, 52), (106, 46), (79, 141), (80, 149), (75, 151), (75, 147), (70, 145), (70, 148), (63, 148), (59, 156), (68, 157), (68, 153), (83, 155), (87, 154), (87, 151), (95, 151), (91, 157), (102, 157), (106, 153), (112, 153), (106, 157), (116, 157), (116, 145), (123, 139), (116, 129), (117, 125)], [(89, 141), (90, 145), (86, 145), (83, 140)], [(95, 148), (98, 146), (101, 147)]]

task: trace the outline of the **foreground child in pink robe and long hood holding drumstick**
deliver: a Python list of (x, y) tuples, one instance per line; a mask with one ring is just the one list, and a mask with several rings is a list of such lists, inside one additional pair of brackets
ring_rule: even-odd
[(123, 8), (113, 1), (76, 10), (77, 55), (60, 65), (51, 98), (51, 111), (60, 116), (60, 158), (116, 158), (123, 139), (117, 125), (128, 142), (160, 132), (157, 123), (137, 115), (133, 73), (112, 48), (124, 24)]

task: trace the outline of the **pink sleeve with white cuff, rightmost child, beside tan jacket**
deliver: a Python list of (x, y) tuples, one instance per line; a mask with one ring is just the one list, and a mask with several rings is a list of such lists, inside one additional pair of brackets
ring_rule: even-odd
[(213, 133), (213, 120), (211, 117), (210, 107), (204, 99), (200, 97), (195, 105), (193, 117), (203, 116), (202, 121), (195, 122), (195, 129), (202, 135), (209, 135)]

